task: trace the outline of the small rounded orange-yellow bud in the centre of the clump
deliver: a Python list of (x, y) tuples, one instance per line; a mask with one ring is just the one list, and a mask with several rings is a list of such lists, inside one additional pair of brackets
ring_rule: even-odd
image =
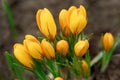
[(63, 56), (65, 56), (68, 53), (68, 42), (65, 40), (60, 40), (56, 44), (56, 51), (58, 53), (61, 53)]

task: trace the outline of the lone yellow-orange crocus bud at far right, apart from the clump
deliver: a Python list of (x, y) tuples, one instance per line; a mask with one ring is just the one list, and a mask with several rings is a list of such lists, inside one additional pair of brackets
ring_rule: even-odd
[(111, 33), (105, 33), (103, 36), (103, 46), (106, 51), (109, 51), (114, 43), (114, 37)]

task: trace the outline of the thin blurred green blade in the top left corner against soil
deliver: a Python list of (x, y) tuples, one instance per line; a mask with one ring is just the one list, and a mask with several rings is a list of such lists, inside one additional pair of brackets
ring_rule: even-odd
[(8, 21), (9, 21), (10, 27), (12, 29), (12, 35), (13, 35), (14, 38), (16, 38), (17, 37), (17, 32), (16, 32), (16, 28), (15, 28), (15, 24), (14, 24), (14, 20), (13, 20), (13, 17), (12, 17), (10, 7), (9, 7), (6, 0), (2, 0), (2, 4), (3, 4), (3, 7), (4, 7), (4, 9), (6, 11), (6, 14), (8, 16)]

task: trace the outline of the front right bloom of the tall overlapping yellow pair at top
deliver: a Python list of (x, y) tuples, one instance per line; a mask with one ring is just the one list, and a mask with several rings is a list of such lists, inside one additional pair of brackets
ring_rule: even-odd
[(87, 24), (86, 10), (81, 5), (74, 9), (70, 15), (70, 30), (73, 34), (79, 34)]

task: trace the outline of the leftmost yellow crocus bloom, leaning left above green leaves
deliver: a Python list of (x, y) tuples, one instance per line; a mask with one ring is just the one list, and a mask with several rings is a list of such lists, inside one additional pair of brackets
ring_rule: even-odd
[(14, 55), (16, 57), (16, 59), (22, 63), (24, 66), (33, 69), (33, 61), (30, 57), (30, 55), (28, 54), (28, 51), (26, 50), (26, 48), (19, 43), (16, 43), (14, 45)]

